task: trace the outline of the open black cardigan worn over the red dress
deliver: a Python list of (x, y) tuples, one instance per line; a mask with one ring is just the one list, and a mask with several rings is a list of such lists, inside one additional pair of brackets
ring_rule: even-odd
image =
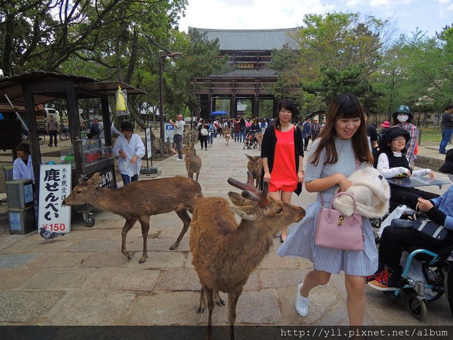
[[(295, 126), (295, 125), (294, 125)], [(274, 166), (275, 144), (277, 144), (277, 137), (275, 136), (275, 127), (271, 125), (266, 129), (261, 143), (261, 158), (268, 157), (269, 172), (272, 174), (272, 167)], [(299, 156), (304, 157), (304, 145), (302, 141), (302, 130), (295, 126), (294, 129), (294, 154), (295, 154), (295, 172), (299, 169)], [(261, 182), (264, 178), (264, 170), (261, 173)], [(302, 183), (298, 183), (298, 187), (294, 192), (299, 196), (302, 192)]]

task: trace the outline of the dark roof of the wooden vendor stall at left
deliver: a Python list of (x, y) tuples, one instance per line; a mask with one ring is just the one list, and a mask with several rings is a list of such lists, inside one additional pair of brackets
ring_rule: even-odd
[[(79, 93), (98, 93), (100, 95), (112, 95), (118, 89), (120, 84), (122, 89), (128, 91), (128, 94), (144, 94), (144, 91), (139, 90), (129, 84), (123, 82), (100, 82), (97, 79), (84, 77), (79, 75), (68, 75), (61, 72), (47, 72), (40, 70), (33, 70), (22, 73), (20, 75), (14, 75), (11, 77), (5, 77), (0, 79), (0, 104), (8, 104), (5, 95), (13, 102), (13, 105), (24, 106), (24, 96), (22, 84), (25, 82), (35, 81), (39, 79), (45, 79), (47, 82), (58, 82), (64, 79), (70, 79), (75, 84), (75, 89)], [(61, 93), (64, 93), (62, 88)], [(56, 98), (60, 98), (56, 93), (33, 93), (33, 101), (35, 105), (50, 102)]]

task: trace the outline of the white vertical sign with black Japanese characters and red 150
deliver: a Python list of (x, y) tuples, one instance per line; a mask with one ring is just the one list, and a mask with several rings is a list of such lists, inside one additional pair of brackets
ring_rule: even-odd
[(71, 207), (62, 203), (71, 192), (71, 170), (71, 164), (41, 165), (38, 230), (71, 231)]

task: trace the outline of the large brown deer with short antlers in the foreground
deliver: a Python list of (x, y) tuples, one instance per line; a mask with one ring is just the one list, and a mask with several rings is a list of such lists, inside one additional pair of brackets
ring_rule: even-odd
[[(208, 326), (212, 322), (213, 294), (228, 293), (228, 320), (236, 322), (236, 304), (250, 273), (269, 252), (278, 231), (305, 216), (305, 210), (268, 197), (268, 183), (263, 192), (253, 185), (247, 171), (247, 183), (229, 178), (228, 183), (243, 189), (242, 196), (229, 192), (234, 207), (226, 199), (199, 199), (192, 215), (190, 251), (192, 264), (201, 283), (197, 313), (203, 313), (208, 300)], [(233, 210), (241, 217), (236, 222)], [(213, 218), (215, 216), (215, 218)]]

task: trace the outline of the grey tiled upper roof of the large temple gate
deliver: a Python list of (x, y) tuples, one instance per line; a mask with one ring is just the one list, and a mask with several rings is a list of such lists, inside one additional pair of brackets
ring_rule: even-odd
[(208, 40), (219, 40), (221, 51), (271, 51), (284, 45), (298, 49), (298, 43), (291, 36), (298, 31), (291, 29), (199, 29), (189, 27), (189, 32), (197, 30), (206, 33)]

